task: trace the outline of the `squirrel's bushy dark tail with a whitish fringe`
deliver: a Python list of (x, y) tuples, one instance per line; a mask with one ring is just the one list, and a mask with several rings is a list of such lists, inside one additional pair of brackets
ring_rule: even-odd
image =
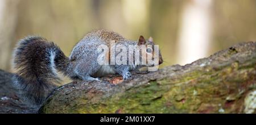
[(24, 96), (40, 105), (59, 82), (57, 70), (67, 72), (68, 57), (52, 42), (39, 36), (19, 41), (14, 51), (16, 85)]

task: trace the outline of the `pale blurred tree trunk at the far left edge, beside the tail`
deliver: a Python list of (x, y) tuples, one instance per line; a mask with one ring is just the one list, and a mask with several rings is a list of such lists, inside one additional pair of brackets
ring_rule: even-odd
[(0, 69), (10, 69), (19, 0), (0, 1)]

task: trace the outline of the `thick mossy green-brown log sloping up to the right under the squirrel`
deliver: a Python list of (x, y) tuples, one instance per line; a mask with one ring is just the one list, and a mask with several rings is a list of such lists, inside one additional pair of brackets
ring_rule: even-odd
[(60, 86), (40, 113), (256, 113), (256, 43), (234, 45), (184, 66), (136, 72), (111, 84)]

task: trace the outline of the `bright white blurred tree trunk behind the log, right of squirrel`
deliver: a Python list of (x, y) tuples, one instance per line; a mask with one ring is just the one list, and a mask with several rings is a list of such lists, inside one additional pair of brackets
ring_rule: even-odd
[(212, 36), (212, 0), (192, 0), (181, 13), (178, 39), (179, 64), (188, 64), (208, 55)]

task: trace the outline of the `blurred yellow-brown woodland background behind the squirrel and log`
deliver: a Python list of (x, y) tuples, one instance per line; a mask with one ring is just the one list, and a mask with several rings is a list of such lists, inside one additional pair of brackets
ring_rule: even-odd
[(69, 56), (87, 32), (152, 36), (163, 66), (187, 64), (241, 41), (256, 41), (255, 0), (0, 0), (0, 69), (11, 71), (16, 42), (54, 41)]

